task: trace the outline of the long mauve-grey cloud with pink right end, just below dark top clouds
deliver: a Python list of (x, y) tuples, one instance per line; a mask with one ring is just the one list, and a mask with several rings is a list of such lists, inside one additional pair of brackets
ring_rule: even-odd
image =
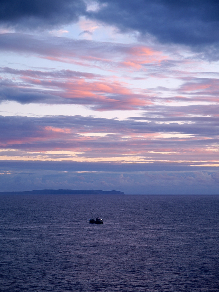
[(67, 37), (0, 34), (0, 50), (37, 54), (41, 58), (117, 72), (139, 70), (147, 63), (166, 59), (162, 52), (139, 44), (77, 40)]

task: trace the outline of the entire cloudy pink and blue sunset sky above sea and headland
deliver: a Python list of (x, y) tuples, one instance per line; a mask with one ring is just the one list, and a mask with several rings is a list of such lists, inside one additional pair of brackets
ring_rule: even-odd
[(219, 1), (0, 4), (0, 191), (219, 193)]

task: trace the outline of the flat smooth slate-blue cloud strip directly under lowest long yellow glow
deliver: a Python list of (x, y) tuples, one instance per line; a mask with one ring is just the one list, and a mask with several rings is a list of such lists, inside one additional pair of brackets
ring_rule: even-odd
[[(39, 170), (46, 171), (67, 171), (67, 172), (120, 172), (131, 173), (141, 172), (145, 175), (146, 172), (199, 172), (212, 171), (218, 172), (219, 166), (194, 166), (188, 162), (146, 162), (146, 163), (121, 163), (121, 162), (78, 162), (78, 161), (24, 161), (24, 160), (1, 160), (0, 170), (6, 172), (32, 172)], [(216, 176), (217, 177), (217, 176)], [(215, 178), (217, 180), (217, 178)]]

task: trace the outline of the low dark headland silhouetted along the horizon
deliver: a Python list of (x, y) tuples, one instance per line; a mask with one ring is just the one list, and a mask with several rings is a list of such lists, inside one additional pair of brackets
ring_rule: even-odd
[(120, 191), (102, 191), (102, 190), (34, 190), (25, 192), (0, 192), (1, 195), (124, 195)]

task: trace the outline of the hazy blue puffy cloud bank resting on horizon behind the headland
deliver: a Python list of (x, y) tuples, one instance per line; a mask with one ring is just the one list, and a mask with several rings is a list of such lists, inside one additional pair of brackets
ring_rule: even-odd
[(1, 191), (36, 189), (121, 190), (126, 194), (217, 194), (218, 171), (57, 171), (11, 168), (0, 173)]

